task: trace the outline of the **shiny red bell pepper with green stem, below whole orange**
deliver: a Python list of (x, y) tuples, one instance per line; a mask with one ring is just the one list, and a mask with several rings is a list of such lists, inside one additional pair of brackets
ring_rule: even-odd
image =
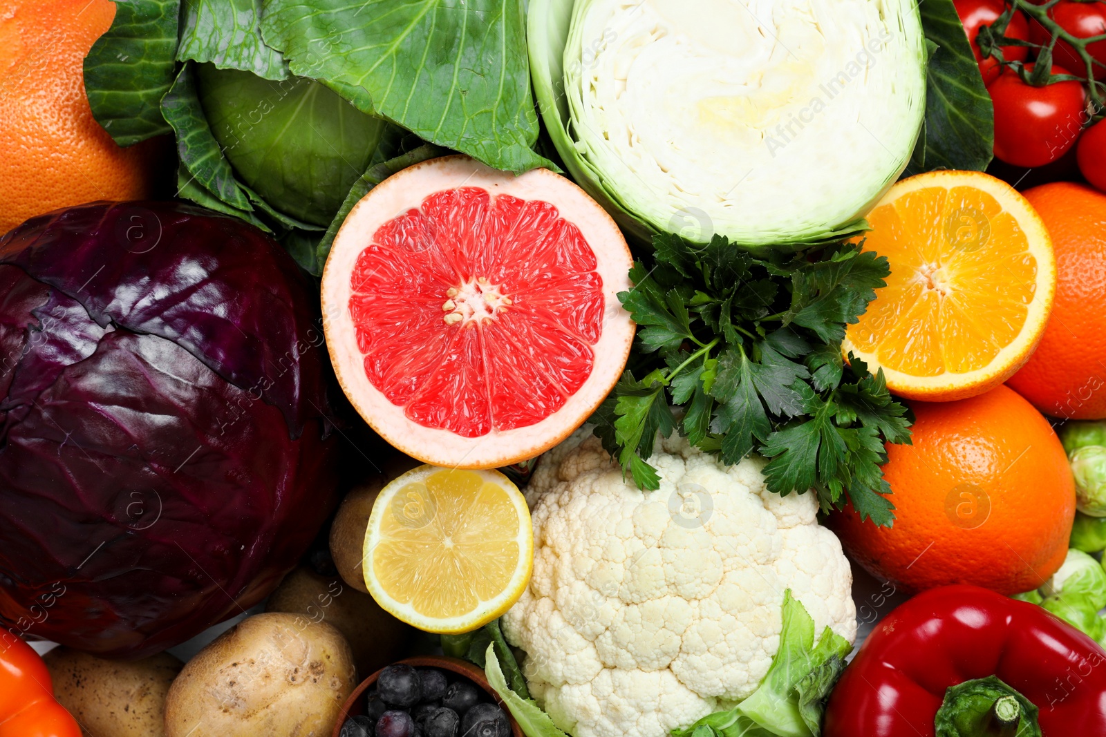
[(935, 734), (1106, 735), (1106, 651), (1044, 609), (987, 589), (920, 593), (845, 668), (823, 735)]

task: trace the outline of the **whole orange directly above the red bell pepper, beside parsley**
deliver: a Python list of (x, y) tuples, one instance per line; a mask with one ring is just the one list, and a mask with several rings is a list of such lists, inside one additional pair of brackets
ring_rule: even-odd
[(847, 507), (828, 524), (877, 578), (908, 591), (1041, 586), (1067, 554), (1075, 482), (1048, 422), (1005, 386), (952, 402), (910, 402), (912, 445), (888, 445), (893, 527)]

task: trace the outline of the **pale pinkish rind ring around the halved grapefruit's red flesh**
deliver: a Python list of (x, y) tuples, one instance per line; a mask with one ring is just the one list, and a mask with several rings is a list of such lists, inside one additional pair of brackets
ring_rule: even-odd
[[(435, 192), (480, 187), (492, 197), (510, 194), (543, 200), (580, 229), (591, 246), (595, 272), (603, 280), (605, 309), (599, 339), (592, 346), (595, 362), (585, 383), (545, 419), (523, 428), (491, 430), (465, 438), (449, 430), (417, 424), (404, 407), (393, 404), (365, 373), (356, 325), (348, 304), (349, 275), (361, 252), (388, 221), (417, 208)], [(535, 457), (553, 448), (603, 402), (629, 357), (634, 323), (617, 294), (633, 288), (629, 248), (617, 225), (594, 200), (564, 177), (547, 169), (523, 175), (498, 171), (467, 156), (431, 159), (404, 169), (372, 189), (351, 210), (338, 230), (322, 280), (326, 345), (338, 383), (364, 420), (386, 441), (425, 463), (457, 468), (493, 468)]]

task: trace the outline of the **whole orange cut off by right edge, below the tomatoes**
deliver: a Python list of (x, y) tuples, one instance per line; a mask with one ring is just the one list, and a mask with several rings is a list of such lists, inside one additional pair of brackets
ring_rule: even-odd
[(1053, 182), (1025, 198), (1056, 255), (1056, 298), (1044, 336), (1006, 385), (1045, 414), (1106, 419), (1106, 194)]

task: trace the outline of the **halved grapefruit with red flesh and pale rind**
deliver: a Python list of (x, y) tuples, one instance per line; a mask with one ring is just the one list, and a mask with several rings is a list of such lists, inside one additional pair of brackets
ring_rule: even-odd
[(349, 212), (323, 272), (349, 401), (426, 463), (489, 468), (580, 427), (618, 380), (632, 259), (611, 217), (546, 169), (413, 166)]

